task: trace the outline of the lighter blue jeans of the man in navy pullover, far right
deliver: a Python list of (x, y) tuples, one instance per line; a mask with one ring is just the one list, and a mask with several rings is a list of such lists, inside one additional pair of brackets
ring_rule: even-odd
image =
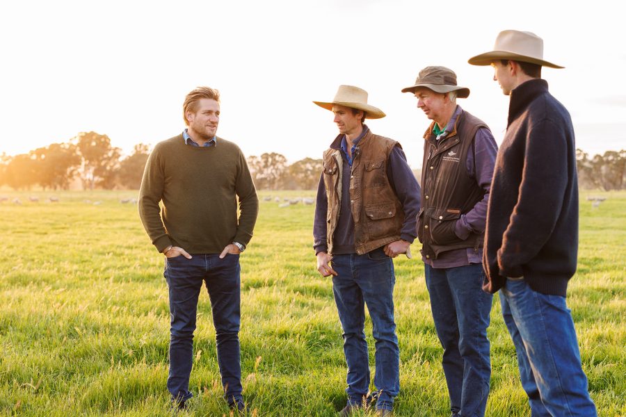
[(523, 280), (507, 279), (500, 304), (531, 416), (597, 416), (565, 297), (537, 293)]

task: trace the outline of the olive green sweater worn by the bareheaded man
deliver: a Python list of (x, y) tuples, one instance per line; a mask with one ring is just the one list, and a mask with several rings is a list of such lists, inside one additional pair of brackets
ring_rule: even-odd
[(248, 245), (259, 212), (241, 149), (222, 138), (211, 147), (186, 145), (182, 134), (154, 147), (138, 205), (159, 252), (174, 245), (190, 254), (218, 254), (233, 241)]

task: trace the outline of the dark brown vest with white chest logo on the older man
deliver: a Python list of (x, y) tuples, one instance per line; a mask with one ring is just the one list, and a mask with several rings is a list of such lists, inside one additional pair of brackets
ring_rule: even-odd
[(454, 129), (437, 143), (433, 122), (424, 133), (422, 163), (422, 209), (417, 217), (417, 237), (422, 254), (437, 259), (449, 250), (483, 247), (484, 233), (472, 233), (461, 240), (454, 232), (456, 220), (483, 199), (484, 191), (470, 177), (465, 163), (476, 131), (487, 125), (465, 111), (456, 119)]

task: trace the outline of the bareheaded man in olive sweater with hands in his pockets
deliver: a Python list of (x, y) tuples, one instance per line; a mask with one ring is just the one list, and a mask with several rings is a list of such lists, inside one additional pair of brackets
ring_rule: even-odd
[(166, 256), (163, 276), (171, 318), (168, 391), (178, 408), (185, 408), (193, 396), (188, 390), (193, 331), (204, 281), (211, 299), (225, 398), (232, 408), (243, 411), (239, 254), (252, 238), (259, 200), (239, 147), (216, 136), (218, 90), (199, 87), (191, 91), (183, 116), (188, 128), (159, 142), (150, 154), (138, 201), (143, 227)]

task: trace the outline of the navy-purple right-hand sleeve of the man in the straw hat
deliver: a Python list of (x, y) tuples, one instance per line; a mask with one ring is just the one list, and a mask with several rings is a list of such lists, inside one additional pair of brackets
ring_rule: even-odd
[(400, 200), (404, 211), (400, 238), (413, 243), (413, 240), (417, 238), (417, 215), (419, 208), (422, 208), (422, 192), (415, 175), (406, 162), (406, 156), (399, 146), (394, 147), (389, 156), (387, 177), (390, 179), (396, 197)]

